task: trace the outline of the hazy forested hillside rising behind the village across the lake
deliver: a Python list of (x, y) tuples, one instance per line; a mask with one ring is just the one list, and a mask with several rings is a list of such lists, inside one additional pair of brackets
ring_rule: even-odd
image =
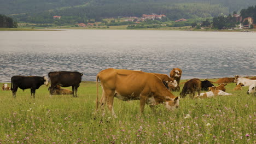
[(18, 21), (53, 23), (53, 16), (62, 16), (60, 23), (86, 22), (90, 19), (118, 16), (164, 14), (170, 20), (214, 17), (229, 14), (255, 0), (0, 0), (0, 14)]

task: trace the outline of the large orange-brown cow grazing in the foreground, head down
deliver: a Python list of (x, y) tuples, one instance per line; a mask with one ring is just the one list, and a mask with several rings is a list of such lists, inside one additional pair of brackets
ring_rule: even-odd
[(140, 100), (140, 112), (143, 113), (145, 104), (154, 106), (164, 103), (168, 110), (179, 106), (179, 98), (168, 91), (161, 79), (154, 74), (142, 71), (124, 69), (105, 69), (100, 71), (96, 77), (98, 109), (98, 80), (101, 81), (102, 97), (101, 109), (107, 101), (108, 109), (114, 117), (114, 97), (123, 101)]

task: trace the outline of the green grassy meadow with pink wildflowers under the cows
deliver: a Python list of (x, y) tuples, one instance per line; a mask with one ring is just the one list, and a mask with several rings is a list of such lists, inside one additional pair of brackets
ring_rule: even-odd
[(233, 95), (187, 95), (177, 110), (158, 105), (154, 114), (146, 105), (142, 116), (138, 100), (115, 99), (118, 118), (107, 107), (95, 112), (96, 82), (82, 82), (78, 98), (50, 97), (46, 86), (37, 89), (35, 99), (30, 89), (18, 89), (16, 99), (11, 91), (0, 91), (0, 143), (256, 143), (256, 97), (246, 94), (248, 87), (225, 87)]

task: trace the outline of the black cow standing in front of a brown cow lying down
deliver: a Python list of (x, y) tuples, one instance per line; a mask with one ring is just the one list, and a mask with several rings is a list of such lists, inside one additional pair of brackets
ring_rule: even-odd
[(53, 71), (50, 72), (48, 76), (51, 82), (51, 86), (49, 87), (50, 92), (54, 91), (57, 85), (61, 87), (72, 86), (73, 97), (77, 97), (77, 88), (80, 86), (83, 73), (77, 71)]

